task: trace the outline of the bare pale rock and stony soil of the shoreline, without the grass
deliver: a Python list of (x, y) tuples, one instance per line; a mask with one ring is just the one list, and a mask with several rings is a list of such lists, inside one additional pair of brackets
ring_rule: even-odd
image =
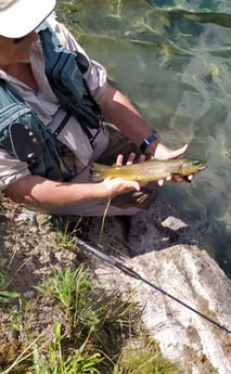
[[(78, 219), (72, 219), (76, 224)], [(11, 262), (17, 289), (33, 300), (34, 286), (49, 274), (51, 265), (75, 268), (79, 255), (57, 248), (51, 220), (34, 215), (8, 199), (0, 205), (1, 261)], [(74, 225), (73, 225), (74, 227)], [(129, 232), (119, 218), (81, 221), (76, 235), (99, 243), (102, 250), (219, 324), (231, 325), (231, 282), (200, 246), (190, 225), (166, 201), (157, 199), (149, 211), (136, 215)], [(134, 291), (142, 320), (164, 357), (180, 364), (184, 374), (231, 373), (231, 335), (149, 285), (81, 252), (92, 273), (107, 292), (126, 296)], [(78, 257), (78, 258), (77, 258)], [(82, 258), (84, 258), (82, 257)], [(48, 330), (55, 315), (52, 305), (30, 319), (35, 330)], [(1, 339), (10, 341), (12, 328), (4, 311), (0, 315)], [(2, 341), (3, 341), (2, 340)]]

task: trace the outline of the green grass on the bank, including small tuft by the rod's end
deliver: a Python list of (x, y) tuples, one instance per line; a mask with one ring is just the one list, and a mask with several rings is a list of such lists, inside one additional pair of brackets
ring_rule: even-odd
[[(72, 235), (78, 230), (78, 225), (69, 230), (68, 222), (64, 229), (56, 228), (55, 248), (72, 249)], [(12, 262), (13, 256), (7, 266), (0, 262), (0, 307), (8, 311), (16, 332), (12, 341), (0, 347), (1, 374), (181, 373), (150, 340), (132, 294), (125, 299), (119, 293), (106, 292), (92, 280), (86, 263), (76, 269), (51, 267), (50, 275), (35, 287), (38, 302), (49, 299), (55, 309), (52, 336), (46, 328), (35, 333), (28, 321), (36, 313), (37, 301), (28, 302), (15, 289)]]

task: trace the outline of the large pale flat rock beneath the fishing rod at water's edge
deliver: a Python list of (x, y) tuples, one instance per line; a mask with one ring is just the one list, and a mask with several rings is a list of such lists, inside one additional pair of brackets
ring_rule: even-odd
[(118, 220), (105, 221), (102, 244), (112, 250), (118, 249), (120, 243), (119, 254), (111, 252), (111, 256), (155, 287), (94, 260), (99, 280), (106, 289), (119, 289), (124, 295), (134, 289), (144, 326), (158, 343), (163, 356), (178, 363), (184, 374), (230, 374), (231, 334), (159, 291), (230, 330), (231, 282), (200, 247), (194, 232), (162, 202), (133, 218), (127, 256), (123, 235)]

